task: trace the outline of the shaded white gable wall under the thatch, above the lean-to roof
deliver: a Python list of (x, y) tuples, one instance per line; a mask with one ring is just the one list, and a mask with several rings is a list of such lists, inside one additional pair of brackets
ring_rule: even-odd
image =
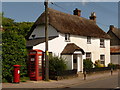
[[(49, 25), (48, 28), (48, 36), (58, 36), (57, 31), (52, 26)], [(29, 39), (33, 39), (32, 35), (35, 35), (35, 38), (45, 37), (45, 26), (37, 26), (30, 35)]]

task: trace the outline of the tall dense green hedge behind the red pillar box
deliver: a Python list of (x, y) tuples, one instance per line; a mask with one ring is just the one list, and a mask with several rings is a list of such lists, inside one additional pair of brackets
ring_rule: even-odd
[(13, 65), (21, 65), (21, 77), (27, 73), (26, 67), (26, 41), (22, 35), (14, 31), (5, 31), (2, 34), (2, 78), (12, 82)]

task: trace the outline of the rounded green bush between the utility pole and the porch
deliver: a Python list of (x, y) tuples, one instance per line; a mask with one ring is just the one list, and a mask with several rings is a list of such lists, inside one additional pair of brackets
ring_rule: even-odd
[(65, 60), (62, 57), (49, 56), (49, 70), (53, 72), (62, 72), (67, 69)]

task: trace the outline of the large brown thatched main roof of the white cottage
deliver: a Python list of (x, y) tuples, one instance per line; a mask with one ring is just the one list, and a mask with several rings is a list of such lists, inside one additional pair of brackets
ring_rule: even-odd
[[(96, 23), (92, 20), (63, 13), (49, 8), (49, 25), (53, 26), (60, 33), (69, 33), (72, 35), (91, 36), (97, 38), (109, 39), (109, 35), (106, 34)], [(45, 12), (37, 19), (32, 26), (30, 32), (27, 35), (27, 39), (35, 29), (37, 25), (45, 23)]]

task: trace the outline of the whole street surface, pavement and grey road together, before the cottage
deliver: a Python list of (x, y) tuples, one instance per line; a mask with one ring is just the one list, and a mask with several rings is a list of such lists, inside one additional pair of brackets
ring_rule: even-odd
[[(111, 90), (108, 88), (116, 88), (118, 86), (118, 71), (114, 71), (111, 76), (110, 72), (101, 72), (92, 75), (87, 75), (86, 80), (82, 76), (71, 79), (64, 80), (51, 80), (51, 81), (27, 81), (20, 82), (19, 84), (14, 83), (3, 83), (3, 90), (12, 90), (14, 89), (74, 89), (78, 88), (79, 90)], [(94, 89), (93, 89), (94, 88)], [(101, 89), (104, 88), (104, 89)]]

